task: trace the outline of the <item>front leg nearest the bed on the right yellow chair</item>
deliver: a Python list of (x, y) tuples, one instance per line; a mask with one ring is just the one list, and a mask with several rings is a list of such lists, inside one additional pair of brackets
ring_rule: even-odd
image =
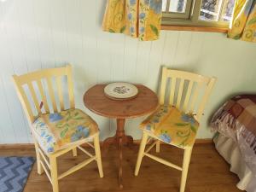
[(186, 180), (188, 176), (189, 171), (189, 163), (191, 158), (192, 148), (185, 148), (184, 149), (184, 155), (183, 155), (183, 171), (182, 171), (182, 177), (181, 177), (181, 184), (180, 184), (180, 192), (185, 191), (186, 186)]

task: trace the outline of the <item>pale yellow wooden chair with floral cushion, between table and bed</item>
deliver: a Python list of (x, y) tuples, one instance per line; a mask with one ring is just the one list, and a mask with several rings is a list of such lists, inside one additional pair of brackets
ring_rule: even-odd
[[(143, 156), (148, 156), (166, 166), (182, 171), (180, 192), (185, 190), (198, 122), (215, 81), (214, 78), (203, 77), (195, 73), (162, 68), (160, 108), (141, 124), (143, 138), (137, 157), (136, 176)], [(151, 139), (155, 140), (154, 143), (145, 150), (146, 144)], [(156, 145), (156, 152), (160, 152), (160, 141), (184, 149), (182, 167), (148, 153), (154, 145)]]

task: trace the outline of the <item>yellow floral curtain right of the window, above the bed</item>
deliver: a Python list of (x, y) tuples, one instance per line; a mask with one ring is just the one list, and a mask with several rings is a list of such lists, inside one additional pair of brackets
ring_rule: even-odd
[(229, 38), (256, 42), (256, 0), (236, 0)]

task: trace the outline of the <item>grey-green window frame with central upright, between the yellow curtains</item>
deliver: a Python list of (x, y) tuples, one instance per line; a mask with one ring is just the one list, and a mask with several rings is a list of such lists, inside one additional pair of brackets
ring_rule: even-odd
[[(222, 3), (220, 14), (218, 15), (218, 17), (220, 17), (224, 12), (223, 7), (225, 2), (227, 2), (227, 0), (224, 0), (224, 2)], [(177, 16), (175, 15), (179, 13), (170, 14), (163, 12), (163, 17), (161, 21), (162, 26), (205, 26), (228, 29), (230, 23), (227, 21), (200, 20), (202, 0), (187, 0), (187, 3), (191, 3), (189, 13), (185, 12), (185, 14), (189, 14), (189, 17), (187, 19), (185, 17), (177, 18)]]

